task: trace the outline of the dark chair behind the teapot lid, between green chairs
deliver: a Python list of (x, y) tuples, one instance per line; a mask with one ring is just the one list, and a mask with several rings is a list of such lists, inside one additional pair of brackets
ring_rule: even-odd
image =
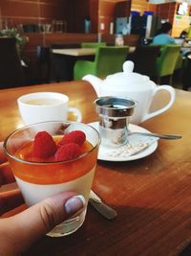
[(127, 60), (134, 61), (134, 72), (152, 78), (155, 74), (155, 63), (159, 57), (160, 46), (137, 46), (133, 54), (127, 56)]

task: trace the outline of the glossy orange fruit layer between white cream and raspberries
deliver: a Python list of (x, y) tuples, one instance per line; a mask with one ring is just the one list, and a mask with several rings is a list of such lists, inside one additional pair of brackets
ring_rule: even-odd
[[(81, 146), (82, 153), (90, 151), (93, 146), (88, 142), (84, 142)], [(24, 163), (10, 158), (11, 169), (15, 176), (34, 184), (58, 184), (72, 181), (82, 175), (87, 174), (96, 166), (97, 151), (89, 152), (82, 158), (72, 160), (71, 162), (49, 162), (49, 163)], [(24, 160), (38, 161), (32, 159), (32, 142), (25, 144), (15, 156)], [(42, 159), (41, 159), (42, 161)]]

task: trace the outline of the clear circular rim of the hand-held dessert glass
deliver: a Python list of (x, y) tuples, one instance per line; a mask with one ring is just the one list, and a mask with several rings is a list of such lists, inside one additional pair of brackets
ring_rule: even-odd
[[(64, 161), (43, 161), (43, 162), (38, 162), (38, 161), (27, 161), (27, 160), (24, 160), (24, 159), (21, 159), (21, 158), (18, 158), (16, 157), (15, 155), (11, 154), (10, 151), (8, 151), (7, 149), (7, 144), (8, 144), (8, 141), (9, 139), (11, 138), (11, 136), (20, 131), (20, 130), (24, 130), (25, 128), (31, 128), (32, 126), (36, 126), (36, 125), (40, 125), (40, 124), (47, 124), (47, 123), (64, 123), (64, 124), (78, 124), (80, 126), (84, 126), (84, 127), (89, 127), (89, 128), (92, 128), (93, 130), (96, 131), (96, 134), (97, 134), (97, 143), (96, 143), (96, 146), (93, 146), (93, 148), (90, 150), (90, 151), (87, 151), (87, 152), (84, 152), (82, 154), (80, 154), (79, 156), (73, 158), (73, 159), (70, 159), (70, 160), (64, 160)], [(55, 164), (68, 164), (70, 162), (74, 162), (78, 159), (81, 159), (83, 157), (85, 157), (86, 155), (88, 155), (89, 153), (91, 153), (92, 151), (95, 151), (96, 148), (99, 147), (100, 145), (100, 135), (98, 133), (98, 131), (96, 130), (96, 128), (93, 128), (92, 126), (88, 125), (88, 124), (84, 124), (84, 123), (80, 123), (80, 122), (74, 122), (74, 121), (45, 121), (45, 122), (40, 122), (40, 123), (35, 123), (35, 124), (32, 124), (32, 125), (29, 125), (29, 126), (24, 126), (22, 128), (17, 128), (15, 130), (13, 130), (10, 135), (7, 136), (7, 138), (5, 139), (4, 143), (3, 143), (3, 150), (5, 151), (6, 155), (8, 155), (9, 157), (11, 157), (11, 159), (13, 160), (16, 160), (18, 162), (21, 162), (21, 163), (24, 163), (24, 164), (30, 164), (30, 165), (47, 165), (47, 164), (52, 164), (52, 165), (55, 165)]]

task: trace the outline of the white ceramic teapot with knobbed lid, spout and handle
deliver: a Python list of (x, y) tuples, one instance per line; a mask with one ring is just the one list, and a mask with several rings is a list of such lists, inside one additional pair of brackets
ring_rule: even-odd
[[(175, 89), (170, 85), (157, 85), (149, 77), (133, 72), (134, 62), (125, 61), (123, 72), (109, 75), (105, 80), (100, 80), (96, 76), (86, 75), (83, 80), (92, 83), (98, 97), (116, 96), (128, 97), (137, 101), (133, 116), (130, 118), (132, 124), (150, 119), (166, 111), (175, 102)], [(165, 90), (170, 94), (169, 102), (154, 112), (149, 112), (154, 96)]]

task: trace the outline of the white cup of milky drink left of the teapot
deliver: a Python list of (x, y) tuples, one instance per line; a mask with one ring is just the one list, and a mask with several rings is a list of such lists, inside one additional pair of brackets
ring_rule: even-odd
[(46, 121), (66, 121), (68, 113), (73, 112), (81, 122), (78, 108), (69, 107), (69, 97), (57, 92), (34, 92), (17, 99), (19, 112), (25, 125)]

